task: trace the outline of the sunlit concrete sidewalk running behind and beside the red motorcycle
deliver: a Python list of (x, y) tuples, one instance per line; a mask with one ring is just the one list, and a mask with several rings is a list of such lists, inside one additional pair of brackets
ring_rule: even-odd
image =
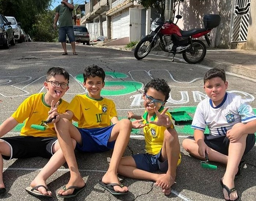
[[(125, 46), (102, 46), (102, 43), (95, 44), (95, 46), (132, 51), (131, 48), (125, 48)], [(172, 58), (172, 54), (163, 51), (152, 51), (150, 54)], [(176, 57), (182, 58), (182, 55), (177, 54)], [(199, 64), (212, 68), (223, 68), (227, 72), (246, 76), (256, 81), (256, 51), (253, 50), (207, 48), (206, 56)]]

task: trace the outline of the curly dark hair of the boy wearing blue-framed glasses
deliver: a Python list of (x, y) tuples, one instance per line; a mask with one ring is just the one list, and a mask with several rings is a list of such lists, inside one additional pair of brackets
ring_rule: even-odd
[(145, 93), (147, 93), (148, 88), (153, 88), (157, 91), (162, 92), (163, 95), (165, 95), (165, 101), (167, 101), (170, 96), (171, 88), (169, 87), (169, 85), (167, 84), (167, 82), (164, 79), (159, 79), (159, 78), (152, 79), (145, 85), (145, 87), (144, 87)]

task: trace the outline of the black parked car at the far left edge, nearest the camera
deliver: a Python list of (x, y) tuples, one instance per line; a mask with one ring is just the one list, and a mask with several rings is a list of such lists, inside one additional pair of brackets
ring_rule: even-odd
[(0, 45), (8, 49), (9, 44), (15, 45), (14, 31), (11, 27), (11, 22), (0, 14)]

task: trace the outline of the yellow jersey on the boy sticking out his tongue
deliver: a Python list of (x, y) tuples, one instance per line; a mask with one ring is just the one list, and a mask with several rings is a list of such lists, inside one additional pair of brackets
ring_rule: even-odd
[[(46, 121), (48, 117), (48, 111), (50, 106), (44, 101), (45, 93), (33, 94), (23, 101), (18, 109), (12, 114), (19, 123), (24, 122), (24, 126), (20, 130), (22, 136), (34, 136), (34, 137), (56, 137), (57, 134), (53, 124), (48, 124), (49, 127), (46, 130), (37, 130), (30, 128), (32, 124), (40, 125), (42, 121)], [(60, 99), (58, 106), (58, 112), (64, 113), (67, 109), (68, 102)]]

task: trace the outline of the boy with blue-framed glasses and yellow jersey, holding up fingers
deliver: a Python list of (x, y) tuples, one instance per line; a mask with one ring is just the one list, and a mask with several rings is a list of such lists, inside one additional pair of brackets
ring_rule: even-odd
[[(125, 156), (118, 167), (118, 174), (125, 177), (155, 181), (155, 185), (162, 187), (166, 195), (170, 194), (181, 160), (178, 134), (167, 112), (168, 108), (163, 108), (169, 93), (170, 87), (163, 79), (153, 79), (146, 84), (143, 94), (144, 115), (128, 112), (129, 119), (143, 119), (143, 123), (147, 124), (143, 129), (146, 153)], [(159, 170), (166, 173), (153, 173)]]

